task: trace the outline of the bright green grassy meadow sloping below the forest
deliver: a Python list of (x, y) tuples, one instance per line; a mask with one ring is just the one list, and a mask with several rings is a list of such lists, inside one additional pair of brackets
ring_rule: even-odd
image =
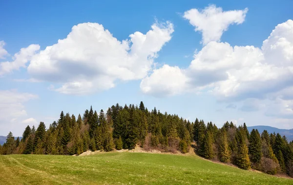
[(198, 156), (101, 152), (84, 157), (0, 155), (0, 184), (293, 185), (293, 180)]

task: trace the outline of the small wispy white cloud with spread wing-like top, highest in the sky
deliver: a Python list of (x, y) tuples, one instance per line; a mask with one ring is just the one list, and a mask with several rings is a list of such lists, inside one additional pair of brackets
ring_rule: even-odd
[(241, 24), (245, 20), (248, 9), (223, 11), (221, 7), (209, 5), (205, 9), (191, 9), (184, 13), (184, 18), (195, 27), (195, 31), (202, 32), (203, 44), (210, 41), (220, 41), (224, 31), (230, 24)]

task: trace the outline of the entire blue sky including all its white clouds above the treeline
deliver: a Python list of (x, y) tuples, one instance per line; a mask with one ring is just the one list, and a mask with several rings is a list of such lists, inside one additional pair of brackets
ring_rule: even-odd
[(48, 126), (62, 110), (140, 101), (218, 126), (292, 128), (290, 7), (292, 0), (1, 1), (0, 135)]

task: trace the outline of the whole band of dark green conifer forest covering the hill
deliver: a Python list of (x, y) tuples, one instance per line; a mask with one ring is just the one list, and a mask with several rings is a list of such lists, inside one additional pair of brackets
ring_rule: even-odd
[(190, 147), (197, 155), (242, 169), (256, 169), (268, 174), (288, 174), (293, 177), (293, 142), (279, 133), (248, 131), (246, 124), (236, 126), (226, 122), (221, 128), (196, 118), (191, 122), (178, 115), (149, 111), (144, 103), (112, 105), (99, 113), (92, 107), (77, 119), (69, 113), (46, 128), (29, 125), (22, 138), (12, 132), (0, 145), (0, 154), (73, 155), (84, 151), (157, 149), (162, 152), (187, 153)]

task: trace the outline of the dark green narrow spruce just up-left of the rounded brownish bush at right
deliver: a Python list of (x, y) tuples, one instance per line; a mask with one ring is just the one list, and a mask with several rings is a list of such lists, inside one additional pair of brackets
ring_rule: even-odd
[(258, 164), (262, 157), (261, 152), (261, 139), (257, 130), (252, 129), (249, 139), (249, 153), (251, 156), (251, 162)]

